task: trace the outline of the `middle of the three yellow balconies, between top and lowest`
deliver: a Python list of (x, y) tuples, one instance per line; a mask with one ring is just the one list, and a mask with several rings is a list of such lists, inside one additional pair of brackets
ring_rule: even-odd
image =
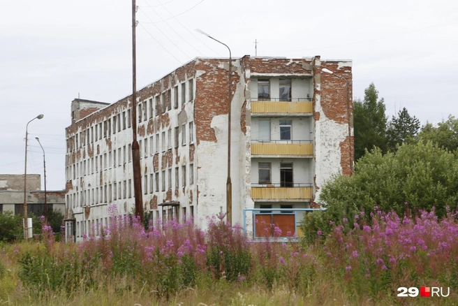
[(251, 140), (251, 155), (313, 156), (313, 140)]

